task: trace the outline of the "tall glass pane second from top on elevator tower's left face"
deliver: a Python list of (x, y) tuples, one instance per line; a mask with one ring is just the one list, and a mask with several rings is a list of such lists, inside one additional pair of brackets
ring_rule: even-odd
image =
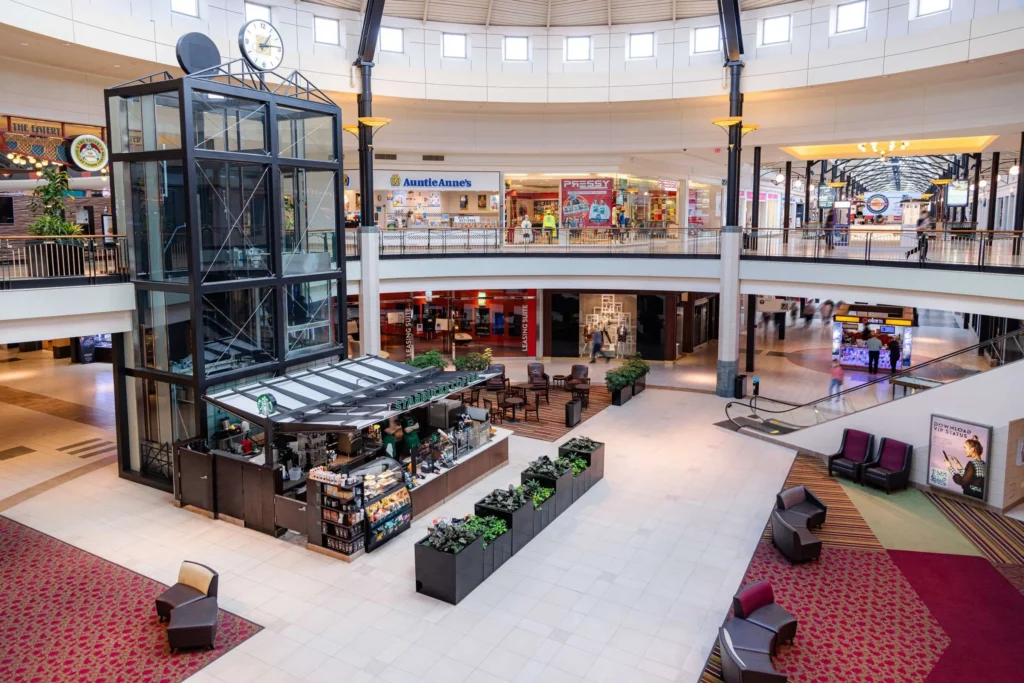
[(187, 282), (188, 228), (181, 162), (116, 162), (118, 211), (136, 280)]

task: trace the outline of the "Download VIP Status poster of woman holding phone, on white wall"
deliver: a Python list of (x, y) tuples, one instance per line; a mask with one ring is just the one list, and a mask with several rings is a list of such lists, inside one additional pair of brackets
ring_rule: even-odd
[(991, 427), (933, 415), (928, 484), (984, 501), (991, 441)]

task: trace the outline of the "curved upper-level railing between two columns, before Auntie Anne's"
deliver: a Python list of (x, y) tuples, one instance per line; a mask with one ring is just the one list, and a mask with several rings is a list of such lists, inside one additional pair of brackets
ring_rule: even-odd
[(719, 230), (677, 227), (628, 228), (407, 228), (381, 231), (380, 255), (444, 256), (462, 254), (666, 255), (715, 258)]

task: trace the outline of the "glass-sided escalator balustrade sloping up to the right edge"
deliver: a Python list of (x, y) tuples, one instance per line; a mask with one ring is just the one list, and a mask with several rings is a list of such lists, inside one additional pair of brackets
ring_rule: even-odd
[[(898, 400), (909, 390), (955, 382), (1024, 358), (1024, 329), (947, 353), (906, 370), (884, 375), (831, 396), (796, 405), (767, 396), (730, 401), (726, 417), (737, 427), (765, 433), (790, 433), (881, 403)], [(896, 389), (903, 392), (897, 396)]]

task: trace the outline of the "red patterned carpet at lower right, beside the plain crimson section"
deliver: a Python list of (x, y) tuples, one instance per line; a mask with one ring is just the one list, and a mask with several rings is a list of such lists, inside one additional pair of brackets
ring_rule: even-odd
[(762, 541), (744, 584), (762, 579), (800, 621), (775, 663), (794, 683), (924, 682), (949, 645), (885, 552), (833, 546), (794, 566)]

